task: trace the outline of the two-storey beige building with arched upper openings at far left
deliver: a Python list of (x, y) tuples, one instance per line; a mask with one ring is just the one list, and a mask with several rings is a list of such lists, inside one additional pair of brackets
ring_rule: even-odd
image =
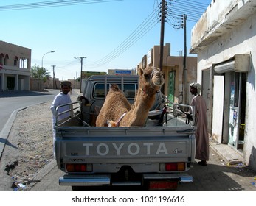
[(30, 90), (31, 49), (0, 40), (0, 91)]

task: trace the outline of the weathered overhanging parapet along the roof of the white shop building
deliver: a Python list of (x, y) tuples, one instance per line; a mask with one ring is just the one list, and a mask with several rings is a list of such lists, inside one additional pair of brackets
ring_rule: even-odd
[(251, 1), (212, 1), (191, 31), (190, 53), (196, 54), (254, 13), (255, 8), (249, 6)]

